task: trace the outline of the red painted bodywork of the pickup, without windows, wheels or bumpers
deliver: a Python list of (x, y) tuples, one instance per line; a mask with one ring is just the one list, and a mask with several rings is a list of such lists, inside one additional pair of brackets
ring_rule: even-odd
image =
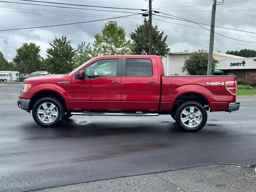
[[(95, 79), (76, 79), (86, 66), (103, 59), (125, 60), (147, 58), (152, 62), (153, 74), (148, 77), (113, 76)], [(121, 65), (120, 65), (121, 66)], [(100, 56), (80, 66), (70, 75), (33, 77), (23, 83), (31, 84), (19, 98), (31, 100), (40, 91), (54, 91), (65, 101), (67, 110), (96, 111), (163, 111), (170, 112), (182, 94), (197, 93), (209, 102), (210, 111), (226, 111), (236, 96), (226, 89), (226, 82), (236, 76), (164, 76), (159, 56)]]

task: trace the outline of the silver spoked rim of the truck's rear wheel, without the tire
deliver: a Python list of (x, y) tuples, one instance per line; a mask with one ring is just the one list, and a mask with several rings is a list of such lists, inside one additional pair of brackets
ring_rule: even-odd
[(202, 112), (195, 106), (188, 106), (182, 110), (180, 120), (189, 129), (194, 129), (200, 125), (203, 116)]

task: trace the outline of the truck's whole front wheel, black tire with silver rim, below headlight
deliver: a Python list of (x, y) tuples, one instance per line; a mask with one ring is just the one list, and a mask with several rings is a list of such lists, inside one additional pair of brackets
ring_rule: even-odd
[(34, 121), (42, 127), (58, 125), (64, 118), (64, 106), (54, 97), (38, 100), (32, 108)]

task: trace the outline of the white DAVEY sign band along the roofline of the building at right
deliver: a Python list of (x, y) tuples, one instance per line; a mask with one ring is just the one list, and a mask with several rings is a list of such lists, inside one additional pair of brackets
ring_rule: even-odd
[(225, 59), (218, 60), (218, 69), (256, 69), (256, 61), (254, 58), (243, 58), (243, 59)]

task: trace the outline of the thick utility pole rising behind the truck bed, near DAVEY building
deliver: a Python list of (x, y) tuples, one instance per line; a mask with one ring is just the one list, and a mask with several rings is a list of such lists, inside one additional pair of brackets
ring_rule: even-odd
[(210, 45), (209, 45), (209, 52), (208, 52), (207, 75), (212, 75), (212, 58), (213, 58), (212, 55), (213, 55), (213, 45), (214, 45), (216, 4), (217, 4), (217, 0), (214, 0), (214, 3), (212, 5), (212, 20), (211, 20), (211, 31), (210, 31)]

